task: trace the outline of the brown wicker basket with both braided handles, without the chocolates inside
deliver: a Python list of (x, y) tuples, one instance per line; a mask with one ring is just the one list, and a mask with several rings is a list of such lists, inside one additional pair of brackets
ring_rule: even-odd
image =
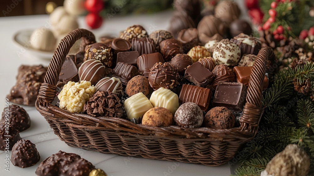
[(94, 35), (88, 30), (76, 29), (62, 39), (49, 64), (36, 102), (36, 109), (46, 118), (54, 133), (69, 146), (121, 156), (217, 166), (231, 160), (240, 146), (256, 135), (262, 115), (265, 66), (268, 58), (274, 58), (270, 47), (262, 48), (257, 55), (240, 127), (183, 129), (178, 126), (133, 124), (122, 118), (95, 118), (51, 105), (65, 57), (81, 37), (88, 40)]

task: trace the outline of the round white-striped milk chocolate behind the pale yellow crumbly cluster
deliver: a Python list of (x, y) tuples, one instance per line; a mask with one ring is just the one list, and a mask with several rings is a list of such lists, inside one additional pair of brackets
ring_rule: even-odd
[(89, 81), (91, 85), (96, 85), (99, 80), (106, 77), (105, 66), (95, 59), (85, 61), (78, 69), (80, 81)]

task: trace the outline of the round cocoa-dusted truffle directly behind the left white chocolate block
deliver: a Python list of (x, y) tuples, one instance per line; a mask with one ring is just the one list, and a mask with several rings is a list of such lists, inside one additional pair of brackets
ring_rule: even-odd
[(133, 96), (139, 92), (142, 92), (145, 96), (149, 95), (149, 81), (146, 77), (138, 75), (133, 77), (125, 88), (125, 93), (128, 96)]

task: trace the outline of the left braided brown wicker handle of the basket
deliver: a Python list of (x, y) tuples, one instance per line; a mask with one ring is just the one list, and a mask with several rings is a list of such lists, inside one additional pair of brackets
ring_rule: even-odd
[(59, 80), (59, 74), (65, 61), (65, 57), (69, 53), (70, 48), (74, 45), (75, 41), (82, 37), (84, 37), (84, 40), (86, 41), (95, 42), (94, 34), (86, 29), (75, 29), (61, 40), (48, 66), (44, 83), (41, 84), (39, 94), (37, 96), (37, 102), (39, 105), (46, 106), (47, 103), (51, 103), (54, 100), (57, 93), (56, 85)]

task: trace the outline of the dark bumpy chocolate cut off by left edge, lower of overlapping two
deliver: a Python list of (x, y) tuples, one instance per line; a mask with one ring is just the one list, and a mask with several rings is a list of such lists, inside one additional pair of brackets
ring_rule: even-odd
[[(0, 124), (0, 150), (7, 152), (12, 150), (13, 145), (21, 140), (18, 130), (14, 128), (11, 124), (2, 123)], [(9, 140), (7, 140), (9, 139)], [(7, 143), (8, 142), (8, 143)]]

